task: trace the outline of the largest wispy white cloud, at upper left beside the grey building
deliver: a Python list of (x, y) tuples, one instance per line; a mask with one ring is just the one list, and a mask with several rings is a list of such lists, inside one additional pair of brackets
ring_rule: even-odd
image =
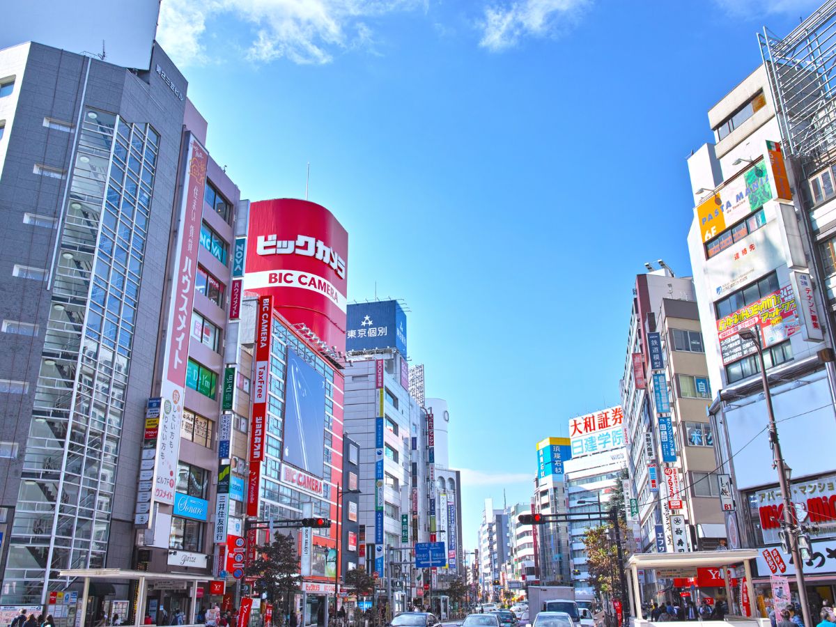
[[(181, 65), (220, 59), (232, 49), (257, 62), (326, 64), (340, 49), (374, 42), (370, 18), (415, 8), (426, 11), (426, 0), (162, 0), (157, 40)], [(246, 40), (216, 48), (220, 38), (206, 41), (210, 20), (223, 23), (225, 36), (242, 31)], [(230, 28), (236, 23), (242, 28)]]

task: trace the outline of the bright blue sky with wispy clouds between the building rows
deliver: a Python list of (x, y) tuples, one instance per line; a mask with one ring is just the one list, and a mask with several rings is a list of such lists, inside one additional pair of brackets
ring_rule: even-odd
[(691, 272), (706, 111), (817, 3), (163, 0), (158, 38), (253, 200), (349, 231), (349, 299), (405, 298), (451, 408), (464, 538), (535, 443), (617, 404), (645, 261)]

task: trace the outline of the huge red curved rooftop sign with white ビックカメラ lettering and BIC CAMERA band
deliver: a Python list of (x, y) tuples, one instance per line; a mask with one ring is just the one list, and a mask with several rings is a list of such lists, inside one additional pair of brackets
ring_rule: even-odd
[(349, 234), (324, 206), (281, 198), (250, 204), (245, 291), (276, 297), (291, 324), (345, 350)]

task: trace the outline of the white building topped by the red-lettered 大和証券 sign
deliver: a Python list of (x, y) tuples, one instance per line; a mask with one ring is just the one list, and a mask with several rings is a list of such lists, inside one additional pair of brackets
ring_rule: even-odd
[(576, 590), (592, 592), (584, 536), (602, 523), (597, 512), (607, 509), (606, 502), (626, 466), (621, 407), (571, 418), (569, 440), (572, 458), (563, 463), (566, 512), (589, 516), (589, 520), (574, 517), (568, 523), (571, 582)]

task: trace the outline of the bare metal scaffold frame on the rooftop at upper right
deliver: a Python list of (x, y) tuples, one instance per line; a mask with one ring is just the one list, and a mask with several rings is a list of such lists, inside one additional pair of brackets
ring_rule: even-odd
[(836, 155), (836, 0), (828, 0), (784, 38), (757, 35), (779, 111), (785, 152), (824, 164)]

